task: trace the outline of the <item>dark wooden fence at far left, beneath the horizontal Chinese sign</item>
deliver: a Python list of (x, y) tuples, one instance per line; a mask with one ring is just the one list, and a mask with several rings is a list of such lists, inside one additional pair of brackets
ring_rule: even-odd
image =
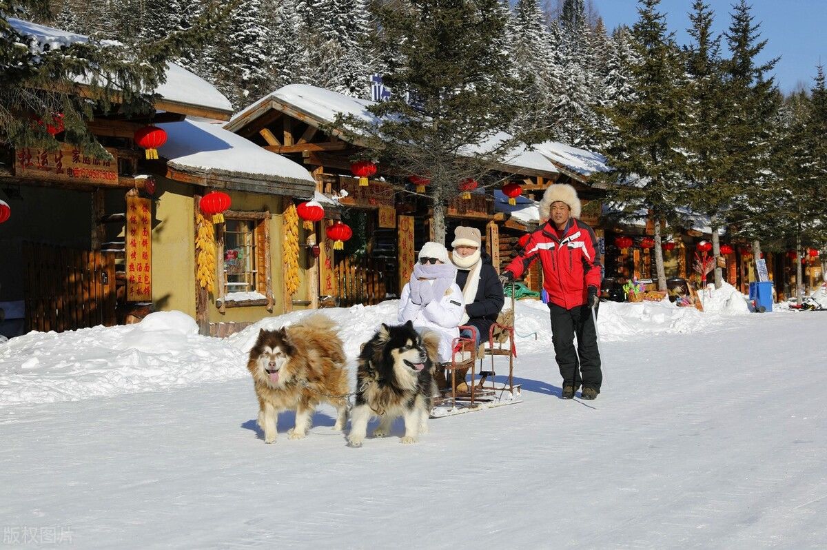
[(62, 332), (115, 320), (115, 256), (23, 243), (27, 330)]

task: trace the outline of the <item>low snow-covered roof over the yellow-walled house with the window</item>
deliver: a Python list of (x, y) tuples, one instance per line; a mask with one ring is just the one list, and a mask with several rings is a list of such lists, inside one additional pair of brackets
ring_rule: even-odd
[(206, 184), (313, 197), (315, 180), (302, 165), (224, 130), (221, 124), (194, 119), (159, 124), (166, 131), (167, 140), (158, 154), (171, 169), (202, 177)]

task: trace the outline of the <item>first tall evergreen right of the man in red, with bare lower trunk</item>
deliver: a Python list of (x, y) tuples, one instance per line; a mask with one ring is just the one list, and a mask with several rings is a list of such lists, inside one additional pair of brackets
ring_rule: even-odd
[(657, 12), (660, 0), (638, 0), (633, 26), (640, 58), (633, 65), (636, 99), (621, 101), (609, 110), (622, 139), (606, 149), (611, 175), (611, 197), (627, 212), (646, 210), (654, 219), (657, 284), (666, 289), (661, 249), (661, 223), (672, 218), (681, 204), (686, 161), (681, 150), (685, 136), (685, 87), (681, 82), (680, 52), (667, 33), (666, 18)]

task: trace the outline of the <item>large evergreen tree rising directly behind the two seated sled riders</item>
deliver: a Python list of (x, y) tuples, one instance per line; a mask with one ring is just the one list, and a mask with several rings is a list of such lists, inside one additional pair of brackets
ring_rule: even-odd
[(461, 181), (500, 183), (491, 170), (530, 135), (492, 145), (523, 106), (500, 46), (503, 10), (499, 0), (408, 0), (382, 7), (379, 17), (393, 95), (370, 108), (375, 124), (346, 118), (337, 126), (355, 126), (370, 154), (392, 160), (400, 174), (431, 180), (434, 236), (445, 242), (446, 202)]

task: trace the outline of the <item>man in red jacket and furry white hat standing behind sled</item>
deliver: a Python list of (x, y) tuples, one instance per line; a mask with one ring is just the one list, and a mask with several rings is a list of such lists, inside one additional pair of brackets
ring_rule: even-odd
[(580, 199), (571, 185), (550, 185), (540, 201), (540, 228), (500, 275), (503, 281), (519, 278), (539, 258), (551, 309), (555, 358), (563, 377), (563, 399), (573, 398), (581, 384), (582, 399), (596, 399), (603, 381), (589, 310), (600, 301), (600, 258), (595, 232), (576, 219), (580, 211)]

